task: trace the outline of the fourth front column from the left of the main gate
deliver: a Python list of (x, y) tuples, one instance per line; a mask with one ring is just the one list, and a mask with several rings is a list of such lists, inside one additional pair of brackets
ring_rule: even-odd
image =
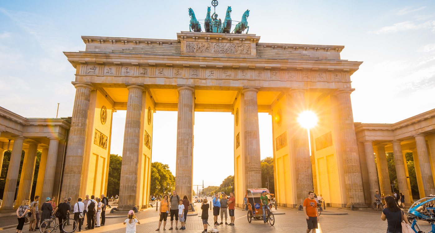
[(244, 94), (244, 156), (246, 189), (261, 188), (260, 134), (258, 132), (258, 89), (243, 89)]

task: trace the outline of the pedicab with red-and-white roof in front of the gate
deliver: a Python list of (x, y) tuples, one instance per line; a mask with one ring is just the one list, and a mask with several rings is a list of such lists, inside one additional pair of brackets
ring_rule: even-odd
[[(263, 191), (266, 191), (266, 196), (270, 200), (270, 192), (268, 189), (248, 189), (246, 190), (246, 197), (248, 199), (248, 222), (251, 223), (254, 220), (263, 220), (263, 204), (261, 203), (260, 196)], [(269, 209), (266, 208), (266, 222), (269, 222), (271, 226), (275, 224), (275, 217), (271, 211), (272, 203), (269, 201)]]

